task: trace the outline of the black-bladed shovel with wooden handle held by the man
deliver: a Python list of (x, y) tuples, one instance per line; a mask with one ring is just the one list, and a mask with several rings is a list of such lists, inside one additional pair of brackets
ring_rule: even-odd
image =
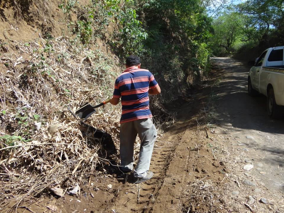
[[(72, 112), (72, 110), (69, 108), (69, 106), (67, 107), (67, 109), (71, 112), (71, 114), (77, 119), (84, 119), (84, 122), (88, 119), (88, 117), (90, 117), (92, 114), (94, 114), (96, 112), (96, 108), (109, 103), (110, 99), (107, 101), (103, 101), (102, 103), (96, 105), (96, 106), (92, 106), (89, 103), (84, 104), (82, 107), (80, 107), (79, 109), (77, 109), (74, 112)], [(78, 118), (79, 117), (79, 118)]]

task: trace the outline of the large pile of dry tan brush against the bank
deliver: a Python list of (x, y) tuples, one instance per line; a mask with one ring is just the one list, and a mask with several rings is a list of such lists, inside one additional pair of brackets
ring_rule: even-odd
[(116, 59), (63, 37), (12, 42), (18, 52), (0, 55), (0, 208), (76, 188), (106, 156), (117, 161), (119, 134), (120, 106), (98, 109), (88, 125), (67, 110), (112, 95)]

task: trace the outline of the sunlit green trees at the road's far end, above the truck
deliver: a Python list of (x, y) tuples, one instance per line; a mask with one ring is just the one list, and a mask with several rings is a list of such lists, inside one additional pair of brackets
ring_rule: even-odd
[[(214, 20), (214, 54), (234, 53), (236, 50), (238, 55), (247, 54), (251, 48), (255, 49), (252, 52), (259, 54), (265, 48), (283, 45), (283, 8), (282, 0), (248, 0), (227, 8)], [(235, 37), (230, 39), (232, 27)]]

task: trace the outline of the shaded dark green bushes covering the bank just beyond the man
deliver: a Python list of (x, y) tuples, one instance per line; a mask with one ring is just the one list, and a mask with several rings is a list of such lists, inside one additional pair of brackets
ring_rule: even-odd
[(136, 2), (147, 39), (143, 63), (159, 84), (166, 86), (164, 102), (170, 102), (199, 83), (209, 70), (207, 43), (212, 19), (200, 1), (150, 0)]

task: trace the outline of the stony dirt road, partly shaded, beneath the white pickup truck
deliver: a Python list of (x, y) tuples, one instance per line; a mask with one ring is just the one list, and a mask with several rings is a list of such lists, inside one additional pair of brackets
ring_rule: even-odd
[(284, 119), (267, 116), (265, 96), (248, 95), (250, 67), (231, 58), (215, 58), (214, 63), (224, 70), (215, 89), (219, 96), (216, 119), (220, 132), (234, 139), (232, 146), (243, 150), (241, 159), (252, 162), (250, 175), (267, 188), (283, 192)]

